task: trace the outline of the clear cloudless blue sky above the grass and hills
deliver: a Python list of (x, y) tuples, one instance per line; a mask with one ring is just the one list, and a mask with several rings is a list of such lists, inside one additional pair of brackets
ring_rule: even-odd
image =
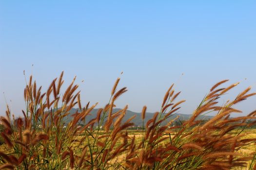
[[(116, 105), (136, 112), (159, 111), (172, 83), (183, 114), (224, 79), (240, 84), (220, 104), (256, 91), (255, 9), (255, 0), (1, 0), (0, 115), (6, 102), (21, 115), (23, 70), (43, 90), (62, 70), (63, 89), (77, 76), (82, 104), (98, 107), (120, 77), (128, 91)], [(256, 97), (236, 108), (248, 114)]]

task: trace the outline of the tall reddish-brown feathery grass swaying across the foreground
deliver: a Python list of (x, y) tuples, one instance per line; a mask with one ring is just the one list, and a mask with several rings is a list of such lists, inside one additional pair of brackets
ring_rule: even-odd
[[(98, 109), (94, 119), (86, 120), (98, 103), (82, 107), (80, 91), (75, 79), (64, 93), (60, 93), (63, 72), (54, 79), (46, 92), (38, 88), (32, 76), (24, 89), (26, 110), (23, 117), (11, 118), (7, 105), (6, 116), (1, 117), (4, 140), (0, 152), (0, 170), (230, 170), (236, 167), (256, 169), (256, 151), (245, 156), (239, 150), (255, 144), (247, 138), (244, 129), (256, 123), (256, 111), (247, 116), (230, 118), (240, 113), (235, 105), (256, 93), (248, 87), (233, 101), (218, 105), (218, 99), (238, 84), (218, 88), (227, 82), (214, 85), (189, 120), (174, 126), (172, 119), (180, 104), (180, 92), (167, 90), (161, 105), (152, 119), (144, 122), (146, 106), (141, 119), (145, 130), (142, 137), (130, 135), (127, 129), (134, 125), (134, 117), (123, 121), (128, 106), (113, 112), (119, 96), (126, 87), (117, 89), (117, 79), (109, 103)], [(177, 101), (177, 102), (176, 102)], [(79, 107), (71, 115), (70, 110)], [(202, 123), (198, 117), (215, 112), (216, 116)], [(70, 122), (65, 117), (72, 116)], [(103, 126), (103, 129), (101, 129)], [(242, 127), (242, 128), (241, 128)], [(231, 133), (233, 132), (233, 133)], [(234, 133), (235, 132), (235, 133)], [(249, 163), (249, 164), (248, 164)]]

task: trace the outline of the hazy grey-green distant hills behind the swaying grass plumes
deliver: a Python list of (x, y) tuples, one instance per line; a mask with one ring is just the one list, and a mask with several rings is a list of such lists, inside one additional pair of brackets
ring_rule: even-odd
[[(70, 110), (70, 113), (71, 113), (70, 116), (66, 117), (66, 118), (64, 119), (64, 121), (65, 121), (65, 122), (69, 122), (70, 120), (72, 120), (73, 117), (71, 117), (71, 115), (74, 114), (74, 113), (76, 113), (77, 110), (78, 110), (78, 108), (72, 108), (72, 109)], [(121, 110), (121, 109), (119, 109), (119, 108), (113, 109), (113, 113), (114, 113), (114, 112), (117, 112), (118, 110)], [(96, 115), (97, 115), (97, 112), (98, 112), (98, 109), (93, 109), (93, 110), (91, 111), (91, 114), (86, 117), (86, 122), (90, 121), (91, 119), (94, 119), (94, 118), (96, 117)], [(132, 120), (132, 122), (133, 122), (135, 125), (137, 125), (137, 126), (142, 126), (141, 113), (133, 112), (133, 111), (130, 111), (130, 110), (127, 110), (127, 111), (126, 111), (126, 114), (125, 114), (125, 116), (124, 116), (124, 118), (123, 118), (123, 122), (126, 121), (127, 119), (131, 118), (131, 117), (134, 116), (134, 115), (136, 115), (136, 117)], [(153, 115), (154, 115), (154, 113), (147, 112), (147, 113), (145, 114), (144, 124), (145, 124), (145, 122), (147, 122), (149, 119), (152, 119)], [(164, 123), (169, 122), (171, 119), (174, 119), (174, 118), (176, 118), (177, 116), (179, 116), (179, 119), (180, 119), (180, 120), (187, 120), (187, 119), (189, 119), (189, 118), (191, 117), (191, 115), (178, 114), (178, 113), (177, 113), (177, 114), (171, 116), (170, 118), (166, 119), (166, 121), (165, 121)], [(212, 118), (212, 116), (201, 116), (201, 117), (199, 117), (199, 118), (197, 118), (197, 119), (211, 119), (211, 118)]]

